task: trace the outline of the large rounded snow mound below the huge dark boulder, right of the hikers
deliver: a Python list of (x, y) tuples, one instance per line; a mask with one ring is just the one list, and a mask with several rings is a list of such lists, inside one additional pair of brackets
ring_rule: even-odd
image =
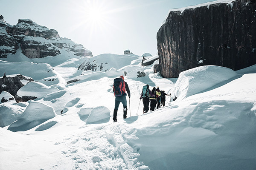
[(237, 76), (235, 71), (220, 66), (207, 65), (192, 68), (180, 73), (172, 95), (180, 101), (235, 76)]

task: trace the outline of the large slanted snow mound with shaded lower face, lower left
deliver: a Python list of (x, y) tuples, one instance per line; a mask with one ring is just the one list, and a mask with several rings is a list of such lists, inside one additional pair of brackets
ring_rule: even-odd
[(8, 130), (26, 131), (56, 116), (54, 109), (41, 102), (32, 101), (16, 122)]

